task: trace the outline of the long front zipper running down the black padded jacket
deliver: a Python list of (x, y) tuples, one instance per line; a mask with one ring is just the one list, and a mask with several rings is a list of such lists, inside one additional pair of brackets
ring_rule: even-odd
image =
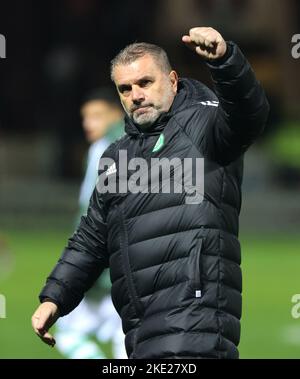
[(120, 214), (120, 248), (121, 248), (121, 255), (122, 255), (122, 261), (123, 261), (123, 267), (125, 270), (125, 276), (128, 283), (128, 291), (129, 291), (129, 297), (132, 301), (132, 304), (134, 306), (136, 315), (138, 317), (141, 317), (144, 308), (138, 298), (136, 288), (133, 282), (133, 276), (131, 272), (130, 267), (130, 261), (129, 261), (129, 254), (128, 254), (128, 236), (127, 236), (127, 230), (126, 230), (126, 224), (125, 224), (125, 217), (122, 207), (119, 208), (119, 214)]

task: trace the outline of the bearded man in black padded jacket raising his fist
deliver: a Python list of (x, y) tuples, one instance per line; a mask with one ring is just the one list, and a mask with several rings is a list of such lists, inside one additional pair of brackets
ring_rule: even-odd
[(127, 135), (103, 154), (102, 162), (115, 163), (105, 171), (100, 161), (99, 178), (132, 182), (121, 170), (121, 151), (141, 165), (141, 158), (204, 159), (204, 193), (203, 180), (198, 201), (191, 198), (192, 186), (181, 193), (159, 193), (155, 186), (150, 193), (115, 193), (103, 191), (106, 182), (97, 185), (32, 318), (50, 345), (50, 326), (109, 266), (129, 358), (238, 358), (242, 161), (269, 108), (234, 43), (202, 27), (182, 41), (206, 61), (217, 96), (202, 83), (178, 79), (158, 46), (125, 48), (111, 74), (127, 113)]

